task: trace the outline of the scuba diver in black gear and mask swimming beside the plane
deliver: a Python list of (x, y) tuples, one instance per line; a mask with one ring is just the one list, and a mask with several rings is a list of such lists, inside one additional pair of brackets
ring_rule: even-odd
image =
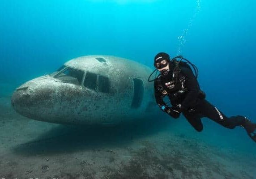
[[(195, 75), (189, 64), (195, 71)], [(230, 129), (241, 126), (246, 130), (248, 136), (256, 142), (256, 124), (241, 115), (226, 117), (205, 99), (205, 93), (201, 91), (196, 79), (198, 69), (190, 61), (182, 56), (170, 60), (167, 53), (160, 52), (154, 58), (154, 66), (156, 68), (154, 72), (158, 70), (160, 74), (154, 80), (148, 79), (148, 81), (154, 81), (156, 102), (162, 111), (175, 119), (179, 118), (182, 113), (198, 132), (203, 130), (202, 117), (207, 117)], [(171, 107), (164, 102), (165, 96), (169, 97)]]

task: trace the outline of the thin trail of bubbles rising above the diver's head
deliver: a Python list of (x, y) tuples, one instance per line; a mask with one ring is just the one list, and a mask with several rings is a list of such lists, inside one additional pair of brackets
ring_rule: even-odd
[(183, 29), (182, 34), (178, 36), (179, 45), (178, 45), (177, 55), (182, 54), (182, 47), (184, 47), (185, 43), (187, 42), (188, 30), (191, 28), (192, 23), (196, 18), (196, 15), (199, 13), (200, 9), (201, 9), (201, 0), (196, 0), (196, 10), (193, 16), (191, 17), (190, 21), (188, 22), (188, 27), (186, 29)]

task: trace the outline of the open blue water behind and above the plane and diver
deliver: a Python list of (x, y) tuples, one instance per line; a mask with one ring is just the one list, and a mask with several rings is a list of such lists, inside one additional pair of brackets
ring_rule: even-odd
[[(93, 54), (153, 69), (154, 55), (165, 51), (196, 64), (201, 89), (227, 116), (256, 122), (255, 9), (255, 0), (1, 0), (0, 81), (20, 85)], [(204, 125), (196, 137), (216, 132), (213, 145), (256, 149), (241, 129)]]

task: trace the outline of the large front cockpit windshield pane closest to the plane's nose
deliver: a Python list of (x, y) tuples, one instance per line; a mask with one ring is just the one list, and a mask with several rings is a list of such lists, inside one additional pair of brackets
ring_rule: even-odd
[(58, 73), (55, 78), (75, 85), (81, 85), (83, 80), (84, 71), (75, 68), (65, 68), (62, 72)]

